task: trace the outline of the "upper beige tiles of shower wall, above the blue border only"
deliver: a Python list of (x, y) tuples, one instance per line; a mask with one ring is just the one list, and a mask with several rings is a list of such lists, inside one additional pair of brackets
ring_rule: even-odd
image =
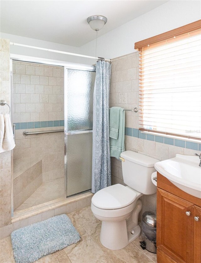
[(13, 62), (14, 122), (63, 120), (63, 67)]

